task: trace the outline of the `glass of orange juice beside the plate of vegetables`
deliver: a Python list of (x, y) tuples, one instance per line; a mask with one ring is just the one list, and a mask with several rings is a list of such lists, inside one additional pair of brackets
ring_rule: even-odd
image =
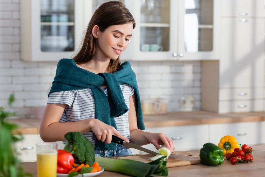
[(57, 174), (57, 143), (37, 143), (37, 176), (55, 176)]

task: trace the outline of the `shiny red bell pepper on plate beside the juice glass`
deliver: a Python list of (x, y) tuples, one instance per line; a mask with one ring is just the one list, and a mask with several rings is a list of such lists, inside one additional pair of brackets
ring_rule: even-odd
[(66, 150), (58, 149), (57, 173), (68, 173), (74, 164), (74, 157)]

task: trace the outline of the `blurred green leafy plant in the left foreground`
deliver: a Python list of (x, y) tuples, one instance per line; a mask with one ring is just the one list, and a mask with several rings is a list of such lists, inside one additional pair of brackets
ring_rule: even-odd
[[(12, 93), (8, 99), (8, 106), (12, 107), (14, 102)], [(21, 134), (14, 136), (12, 131), (18, 128), (18, 125), (6, 122), (9, 116), (15, 116), (16, 113), (4, 110), (0, 107), (0, 177), (32, 176), (30, 173), (24, 173), (20, 161), (16, 158), (14, 143), (23, 139)]]

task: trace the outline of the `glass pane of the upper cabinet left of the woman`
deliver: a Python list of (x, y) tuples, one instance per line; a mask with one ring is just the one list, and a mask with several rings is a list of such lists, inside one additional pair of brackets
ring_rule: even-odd
[(40, 0), (42, 52), (74, 51), (75, 0)]

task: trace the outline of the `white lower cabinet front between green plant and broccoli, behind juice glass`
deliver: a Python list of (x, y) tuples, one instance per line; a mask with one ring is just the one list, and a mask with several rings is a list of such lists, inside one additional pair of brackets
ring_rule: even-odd
[[(14, 144), (15, 150), (18, 153), (18, 158), (21, 162), (34, 162), (37, 161), (36, 143), (43, 142), (39, 134), (24, 134), (24, 139)], [(57, 143), (57, 149), (63, 149), (64, 144), (62, 141)]]

